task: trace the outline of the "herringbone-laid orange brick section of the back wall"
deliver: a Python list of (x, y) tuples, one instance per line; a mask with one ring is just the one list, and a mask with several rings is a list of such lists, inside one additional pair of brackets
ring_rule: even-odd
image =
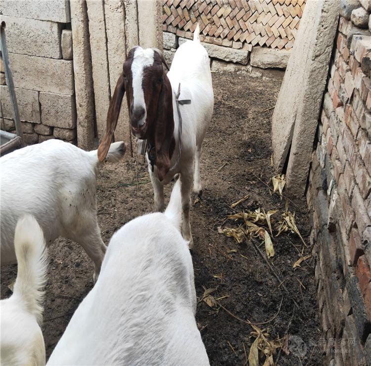
[(162, 0), (163, 30), (190, 38), (196, 24), (202, 40), (241, 48), (293, 46), (305, 0)]

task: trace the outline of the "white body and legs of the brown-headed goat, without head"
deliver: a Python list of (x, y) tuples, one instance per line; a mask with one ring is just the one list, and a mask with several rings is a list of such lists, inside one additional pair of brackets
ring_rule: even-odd
[(163, 182), (158, 180), (157, 168), (151, 171), (148, 160), (148, 170), (154, 189), (155, 210), (164, 209), (164, 188), (174, 175), (181, 174), (182, 182), (182, 206), (183, 206), (183, 229), (185, 240), (189, 241), (189, 247), (193, 247), (193, 238), (189, 223), (190, 190), (193, 181), (193, 192), (200, 194), (200, 157), (202, 141), (210, 125), (214, 107), (214, 92), (210, 72), (210, 61), (206, 49), (199, 40), (199, 27), (193, 35), (193, 41), (187, 41), (175, 52), (170, 71), (167, 74), (173, 89), (174, 111), (174, 137), (175, 150), (171, 158), (170, 166), (173, 167), (178, 159), (179, 149), (179, 116), (176, 106), (175, 94), (181, 84), (179, 99), (190, 99), (191, 104), (181, 105), (183, 121), (182, 130), (182, 155), (175, 166), (165, 177)]

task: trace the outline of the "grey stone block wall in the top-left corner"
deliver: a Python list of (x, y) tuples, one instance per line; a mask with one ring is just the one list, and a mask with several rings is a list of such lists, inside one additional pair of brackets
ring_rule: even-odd
[[(24, 140), (59, 138), (76, 143), (72, 34), (68, 2), (3, 0), (1, 20), (9, 51)], [(14, 132), (1, 61), (1, 129)]]

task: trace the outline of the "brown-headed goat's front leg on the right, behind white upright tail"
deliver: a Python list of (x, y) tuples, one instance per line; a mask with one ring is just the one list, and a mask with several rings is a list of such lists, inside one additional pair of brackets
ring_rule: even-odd
[(189, 223), (190, 190), (193, 182), (193, 161), (192, 164), (181, 172), (181, 193), (182, 193), (182, 234), (185, 240), (189, 241), (189, 249), (193, 249), (193, 238)]

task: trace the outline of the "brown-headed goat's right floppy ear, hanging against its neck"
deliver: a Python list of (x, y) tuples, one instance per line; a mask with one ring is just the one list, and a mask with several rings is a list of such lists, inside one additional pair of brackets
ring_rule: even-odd
[(172, 89), (165, 73), (163, 78), (155, 130), (156, 166), (160, 181), (164, 180), (170, 170), (170, 159), (175, 148)]

